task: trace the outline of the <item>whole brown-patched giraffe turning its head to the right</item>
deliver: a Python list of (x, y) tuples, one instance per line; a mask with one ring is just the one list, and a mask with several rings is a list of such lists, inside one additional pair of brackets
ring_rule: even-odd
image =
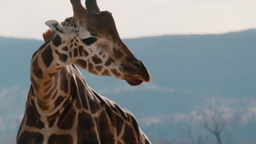
[(77, 67), (136, 86), (150, 74), (119, 38), (96, 0), (71, 0), (73, 17), (45, 22), (45, 43), (31, 58), (31, 87), (16, 143), (148, 144), (129, 110), (96, 93)]

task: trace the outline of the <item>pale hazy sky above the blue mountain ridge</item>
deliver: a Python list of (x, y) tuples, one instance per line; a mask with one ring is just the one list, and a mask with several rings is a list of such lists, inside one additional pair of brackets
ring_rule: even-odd
[[(122, 38), (256, 28), (255, 0), (97, 1), (101, 10), (113, 14)], [(72, 15), (69, 0), (2, 1), (0, 36), (42, 39), (45, 21), (61, 22)]]

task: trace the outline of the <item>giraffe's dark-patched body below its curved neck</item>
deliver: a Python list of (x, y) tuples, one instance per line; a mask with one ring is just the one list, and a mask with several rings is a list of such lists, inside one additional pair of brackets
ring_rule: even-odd
[(63, 73), (70, 83), (68, 98), (54, 115), (37, 111), (37, 95), (30, 88), (18, 143), (150, 143), (132, 113), (98, 95), (75, 65), (66, 65), (56, 76)]

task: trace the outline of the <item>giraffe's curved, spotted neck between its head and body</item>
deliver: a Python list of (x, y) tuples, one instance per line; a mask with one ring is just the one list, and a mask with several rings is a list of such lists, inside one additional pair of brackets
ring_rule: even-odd
[(70, 45), (54, 34), (33, 55), (31, 83), (41, 115), (53, 115), (69, 98), (73, 73)]

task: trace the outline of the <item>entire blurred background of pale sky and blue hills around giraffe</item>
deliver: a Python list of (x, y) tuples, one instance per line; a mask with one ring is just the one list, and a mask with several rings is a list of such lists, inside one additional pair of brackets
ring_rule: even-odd
[[(84, 3), (84, 1), (82, 1)], [(256, 143), (256, 1), (100, 1), (152, 81), (131, 87), (81, 70), (96, 92), (133, 112), (156, 144)], [(0, 143), (15, 143), (30, 59), (47, 20), (69, 1), (0, 5)], [(106, 84), (107, 83), (107, 84)]]

